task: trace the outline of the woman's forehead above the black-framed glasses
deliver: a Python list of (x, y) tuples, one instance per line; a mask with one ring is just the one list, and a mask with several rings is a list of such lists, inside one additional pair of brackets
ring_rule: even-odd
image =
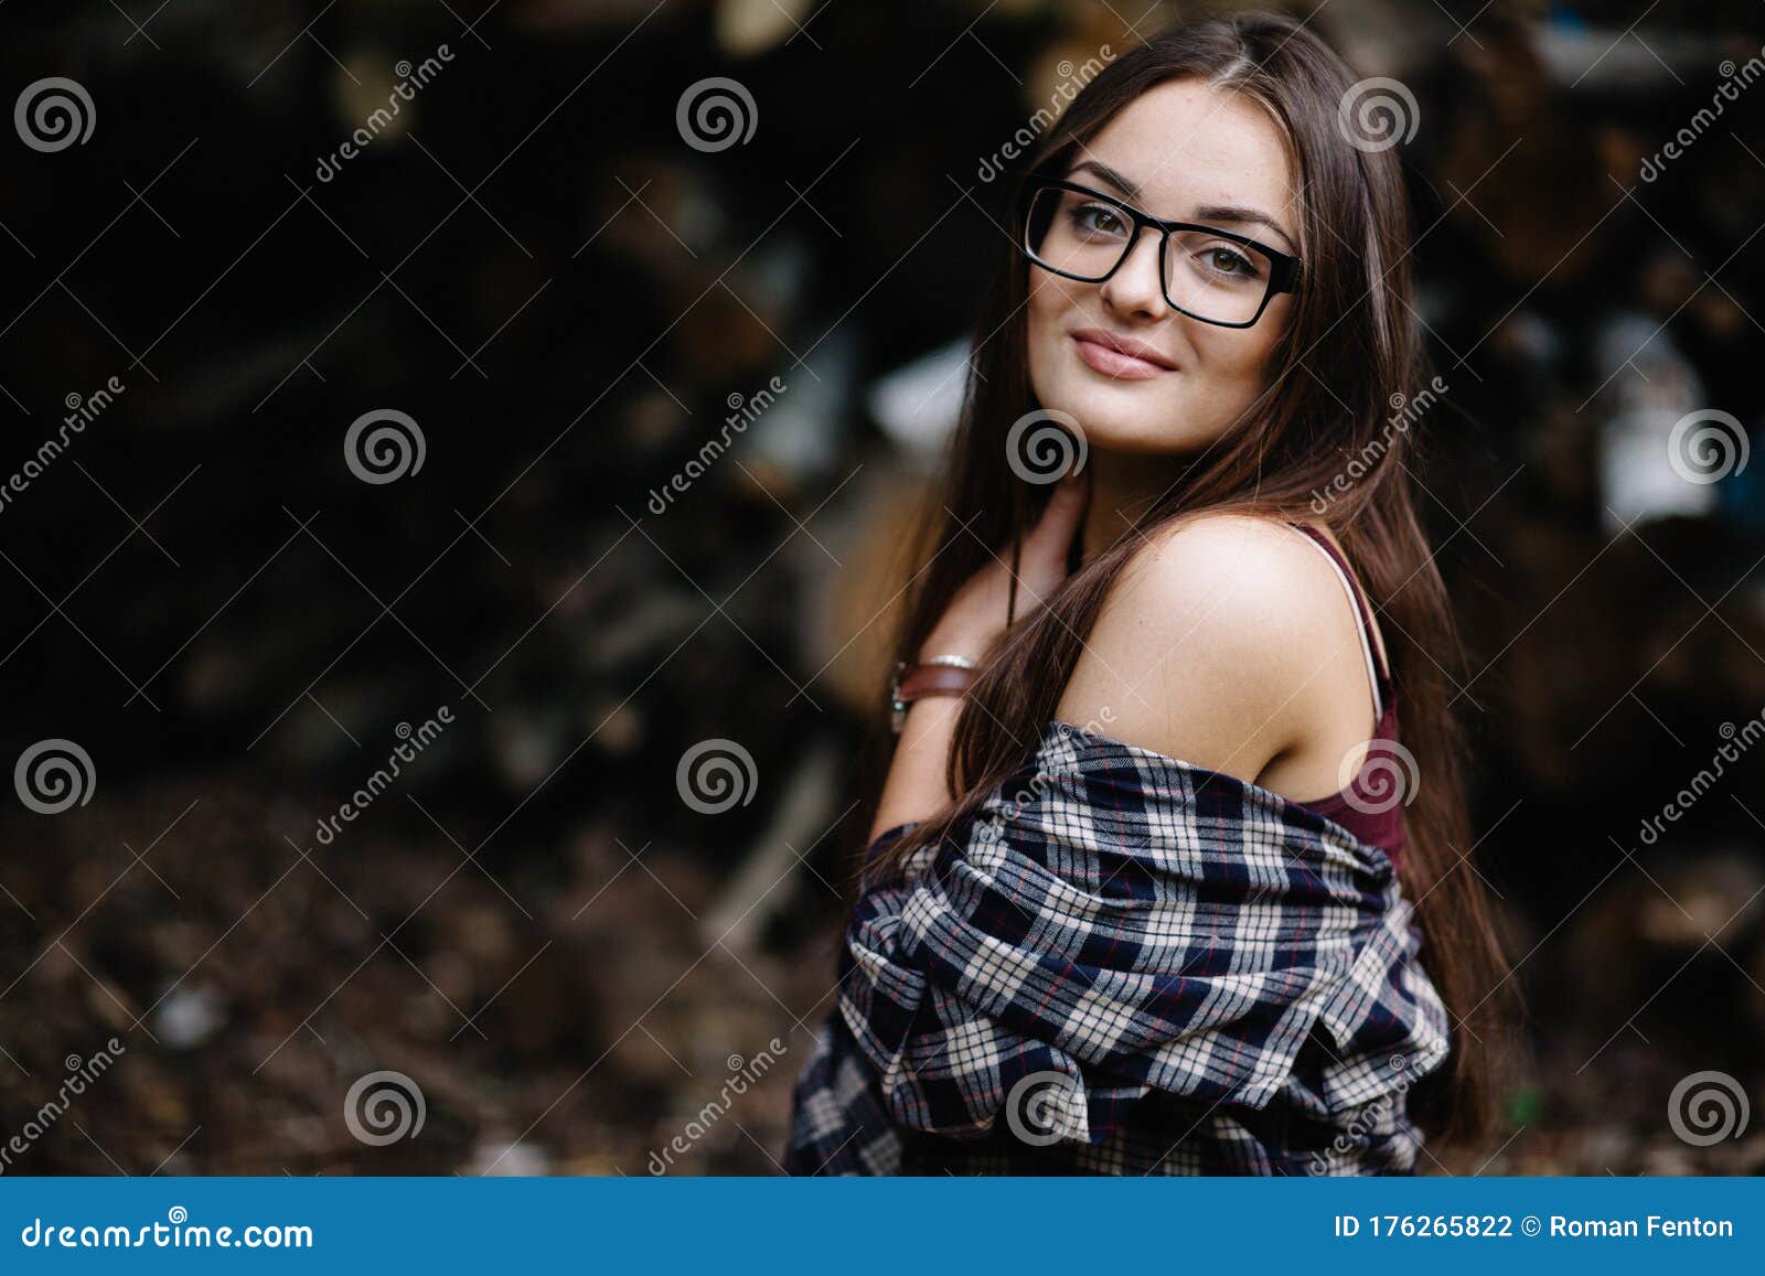
[(1292, 173), (1280, 127), (1253, 99), (1197, 79), (1145, 90), (1073, 162), (1100, 159), (1140, 187), (1140, 206), (1181, 217), (1250, 205), (1292, 229)]

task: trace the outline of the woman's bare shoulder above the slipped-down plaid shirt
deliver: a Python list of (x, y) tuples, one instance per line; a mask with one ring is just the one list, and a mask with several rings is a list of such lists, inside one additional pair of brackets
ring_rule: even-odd
[(1055, 717), (1253, 780), (1341, 713), (1345, 685), (1368, 694), (1359, 660), (1341, 582), (1303, 533), (1202, 515), (1135, 554)]

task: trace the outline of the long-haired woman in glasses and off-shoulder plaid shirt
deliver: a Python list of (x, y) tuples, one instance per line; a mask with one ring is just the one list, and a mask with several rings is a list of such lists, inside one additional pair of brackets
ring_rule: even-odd
[(1488, 1140), (1507, 971), (1394, 413), (1426, 388), (1405, 194), (1352, 88), (1241, 16), (1123, 55), (1043, 138), (792, 1174), (1377, 1174)]

